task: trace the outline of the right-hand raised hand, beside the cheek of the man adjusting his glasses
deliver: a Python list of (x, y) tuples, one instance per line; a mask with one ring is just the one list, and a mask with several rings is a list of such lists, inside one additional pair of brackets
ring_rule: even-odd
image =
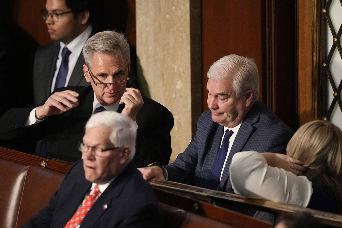
[(121, 97), (120, 105), (123, 103), (125, 107), (121, 113), (135, 121), (136, 115), (144, 104), (140, 91), (134, 88), (126, 88), (126, 92)]

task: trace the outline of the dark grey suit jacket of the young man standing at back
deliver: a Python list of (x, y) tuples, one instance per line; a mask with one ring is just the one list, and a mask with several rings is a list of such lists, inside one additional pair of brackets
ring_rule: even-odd
[[(56, 71), (56, 61), (61, 49), (60, 42), (41, 46), (35, 55), (33, 68), (33, 95), (34, 105), (38, 105), (42, 100), (49, 98), (51, 94), (51, 84)], [(88, 86), (83, 75), (84, 59), (82, 53), (77, 59), (73, 73), (71, 73), (68, 85)]]

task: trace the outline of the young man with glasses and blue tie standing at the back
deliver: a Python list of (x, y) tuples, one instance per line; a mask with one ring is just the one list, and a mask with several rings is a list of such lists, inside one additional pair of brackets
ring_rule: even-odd
[(35, 55), (33, 70), (34, 104), (52, 91), (67, 85), (88, 83), (83, 77), (82, 47), (92, 33), (94, 0), (47, 0), (40, 13), (52, 44), (42, 46)]

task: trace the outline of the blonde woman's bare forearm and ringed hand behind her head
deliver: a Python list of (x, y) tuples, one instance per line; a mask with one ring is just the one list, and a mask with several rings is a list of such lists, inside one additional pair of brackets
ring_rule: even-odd
[(303, 175), (306, 168), (303, 166), (304, 162), (298, 159), (291, 158), (281, 153), (261, 153), (268, 165), (273, 167), (282, 168), (286, 171), (290, 171), (297, 176)]

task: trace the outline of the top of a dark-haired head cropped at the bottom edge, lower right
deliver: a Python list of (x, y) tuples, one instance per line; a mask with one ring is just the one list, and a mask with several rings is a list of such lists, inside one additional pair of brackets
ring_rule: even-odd
[(308, 213), (292, 213), (280, 215), (274, 227), (278, 223), (284, 223), (287, 228), (323, 228), (318, 220)]

